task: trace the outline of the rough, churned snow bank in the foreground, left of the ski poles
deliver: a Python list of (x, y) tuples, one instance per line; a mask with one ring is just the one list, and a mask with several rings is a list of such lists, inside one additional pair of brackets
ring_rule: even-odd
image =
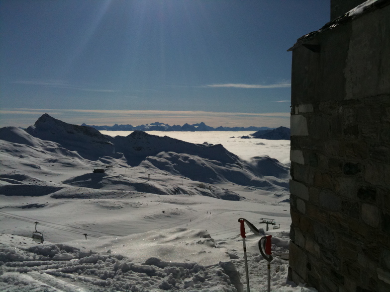
[[(10, 238), (14, 237), (0, 235), (2, 242)], [(99, 254), (62, 243), (1, 244), (0, 261), (4, 291), (236, 292), (242, 286), (230, 262), (203, 266), (149, 257), (134, 263), (112, 252)]]

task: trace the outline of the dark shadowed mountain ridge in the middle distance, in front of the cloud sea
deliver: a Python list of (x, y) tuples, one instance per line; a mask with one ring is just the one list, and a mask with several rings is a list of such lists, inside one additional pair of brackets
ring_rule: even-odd
[[(204, 183), (231, 182), (270, 190), (285, 188), (286, 182), (279, 179), (289, 177), (286, 165), (266, 155), (253, 157), (248, 162), (220, 144), (193, 144), (143, 131), (134, 131), (126, 137), (111, 137), (94, 128), (68, 124), (48, 114), (42, 115), (34, 126), (26, 130), (1, 128), (0, 139), (30, 146), (28, 151), (33, 147), (42, 153), (49, 152), (49, 156), (55, 153), (55, 157), (46, 157), (50, 163), (53, 159), (68, 163), (72, 157), (72, 163), (80, 162), (80, 159), (86, 163), (87, 159), (103, 163), (104, 166), (158, 169)], [(7, 152), (12, 153), (13, 150)]]

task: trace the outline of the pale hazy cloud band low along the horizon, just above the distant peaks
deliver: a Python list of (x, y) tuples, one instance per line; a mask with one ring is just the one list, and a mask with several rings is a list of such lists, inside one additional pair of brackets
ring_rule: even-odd
[[(87, 125), (131, 124), (141, 125), (164, 122), (170, 125), (204, 122), (212, 127), (264, 126), (289, 127), (290, 112), (241, 113), (206, 111), (159, 111), (159, 110), (91, 110), (91, 109), (2, 109), (2, 126), (33, 125), (40, 115), (48, 113), (67, 123)], [(21, 119), (20, 117), (28, 119)]]

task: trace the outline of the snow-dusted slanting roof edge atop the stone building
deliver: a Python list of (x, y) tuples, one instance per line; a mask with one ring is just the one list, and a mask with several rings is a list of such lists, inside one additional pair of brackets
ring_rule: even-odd
[(350, 22), (353, 19), (360, 17), (360, 16), (362, 16), (370, 11), (383, 8), (389, 4), (390, 4), (390, 0), (367, 0), (366, 2), (351, 9), (347, 13), (337, 17), (336, 19), (333, 19), (332, 21), (329, 21), (323, 27), (321, 27), (319, 30), (312, 31), (312, 32), (298, 38), (296, 43), (287, 51), (290, 52), (290, 51), (296, 49), (297, 47), (302, 45), (303, 42), (313, 39), (316, 35), (318, 35), (321, 32), (324, 32), (324, 31), (329, 30), (329, 29), (333, 29), (336, 26), (339, 26), (340, 24)]

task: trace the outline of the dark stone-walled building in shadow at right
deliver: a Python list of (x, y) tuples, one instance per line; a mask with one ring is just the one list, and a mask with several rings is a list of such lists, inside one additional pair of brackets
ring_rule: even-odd
[(332, 0), (331, 17), (290, 49), (289, 276), (390, 292), (390, 0)]

